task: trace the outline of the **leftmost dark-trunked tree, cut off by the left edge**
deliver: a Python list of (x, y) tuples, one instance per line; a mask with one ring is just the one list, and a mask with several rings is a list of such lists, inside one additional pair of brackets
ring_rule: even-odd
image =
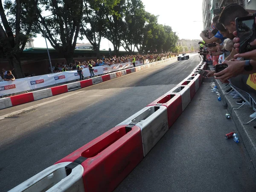
[(0, 47), (10, 68), (15, 68), (17, 78), (24, 77), (20, 56), (26, 42), (37, 32), (34, 26), (37, 3), (38, 0), (6, 0), (3, 6), (0, 1)]

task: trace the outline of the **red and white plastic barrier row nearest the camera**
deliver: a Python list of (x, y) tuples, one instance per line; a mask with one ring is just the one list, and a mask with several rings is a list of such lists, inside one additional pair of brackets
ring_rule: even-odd
[[(205, 65), (205, 63), (201, 64), (200, 67), (204, 68)], [(72, 168), (72, 165), (82, 168), (79, 168), (79, 174), (76, 175), (76, 179), (70, 179), (68, 182), (73, 191), (76, 192), (75, 183), (80, 181), (81, 177), (83, 181), (83, 189), (79, 188), (81, 192), (113, 191), (143, 160), (143, 157), (150, 152), (154, 145), (171, 128), (182, 111), (189, 105), (191, 89), (195, 89), (195, 92), (198, 90), (196, 89), (196, 84), (199, 82), (198, 87), (201, 84), (200, 76), (199, 74), (191, 73), (180, 83), (183, 84), (183, 82), (189, 81), (186, 85), (177, 85), (177, 87), (174, 87), (142, 110), (116, 125), (116, 127), (56, 162), (55, 166), (66, 163), (63, 165), (64, 167), (68, 166), (69, 169), (70, 167)], [(115, 78), (116, 76), (113, 77)], [(188, 80), (191, 77), (194, 77), (194, 79)], [(111, 76), (107, 79), (109, 78)], [(92, 80), (89, 83), (86, 83), (87, 81), (82, 81), (84, 86), (93, 84)], [(81, 170), (83, 171), (82, 174)], [(53, 168), (45, 169), (41, 173), (46, 172), (54, 172), (54, 166)], [(40, 178), (44, 178), (44, 174), (41, 173), (38, 175), (42, 175)], [(65, 175), (64, 172), (61, 175), (62, 177), (66, 178), (69, 175), (67, 172)], [(23, 186), (26, 184), (33, 185), (33, 183), (38, 183), (38, 180), (37, 175), (35, 175), (12, 189), (11, 192), (22, 191)], [(57, 179), (56, 182), (52, 182), (50, 187), (54, 188), (57, 185), (61, 185), (60, 182), (65, 185), (65, 182), (62, 182), (62, 180), (58, 182), (59, 180)], [(49, 183), (47, 180), (42, 179), (40, 185), (47, 186), (47, 183)], [(33, 192), (41, 192), (41, 189), (43, 188), (38, 187)], [(59, 191), (65, 190), (61, 188)]]

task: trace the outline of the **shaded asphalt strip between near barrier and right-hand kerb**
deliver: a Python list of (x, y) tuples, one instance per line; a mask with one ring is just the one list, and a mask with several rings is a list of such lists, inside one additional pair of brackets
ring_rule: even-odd
[[(227, 109), (204, 83), (175, 124), (115, 192), (256, 191), (256, 172)], [(250, 152), (250, 151), (249, 151)]]

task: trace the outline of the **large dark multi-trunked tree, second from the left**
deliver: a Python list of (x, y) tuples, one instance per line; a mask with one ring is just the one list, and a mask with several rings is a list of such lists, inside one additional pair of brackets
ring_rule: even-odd
[[(67, 63), (73, 62), (73, 54), (82, 18), (82, 0), (39, 0), (37, 7), (37, 26), (58, 53), (66, 59)], [(53, 14), (44, 19), (43, 11)], [(43, 26), (41, 25), (44, 19)]]

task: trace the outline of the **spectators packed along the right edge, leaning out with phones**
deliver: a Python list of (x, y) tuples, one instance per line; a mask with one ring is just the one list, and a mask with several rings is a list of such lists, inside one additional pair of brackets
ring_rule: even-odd
[[(249, 75), (256, 73), (256, 49), (247, 52), (245, 49), (239, 50), (240, 39), (236, 31), (236, 24), (238, 24), (236, 23), (236, 18), (253, 16), (256, 24), (255, 12), (253, 10), (245, 10), (239, 4), (232, 3), (223, 7), (221, 14), (215, 15), (212, 19), (212, 26), (217, 31), (207, 29), (200, 34), (203, 41), (198, 44), (200, 46), (200, 55), (204, 56), (204, 61), (214, 66), (217, 64), (227, 64), (227, 68), (218, 73), (215, 70), (207, 70), (207, 77), (215, 77), (215, 79), (220, 79), (223, 83), (229, 82), (233, 87), (239, 88), (236, 90), (230, 88), (228, 90), (234, 99), (241, 99), (242, 94), (239, 93), (239, 90), (243, 90), (249, 93), (256, 101), (256, 81), (253, 80), (254, 83), (248, 83), (251, 79)], [(255, 39), (256, 29), (250, 30), (254, 36), (252, 38)], [(212, 47), (212, 43), (215, 43), (213, 44), (215, 46)], [(256, 40), (248, 43), (254, 46), (256, 45)], [(219, 57), (223, 54), (224, 58), (221, 60)], [(236, 101), (239, 105), (250, 104), (247, 102), (243, 99)], [(251, 114), (250, 117), (256, 118), (256, 112)]]

